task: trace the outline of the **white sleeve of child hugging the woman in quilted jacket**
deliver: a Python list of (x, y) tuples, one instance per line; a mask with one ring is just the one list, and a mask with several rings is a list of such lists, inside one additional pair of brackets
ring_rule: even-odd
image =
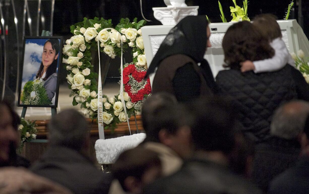
[(288, 63), (290, 54), (286, 49), (284, 41), (281, 38), (277, 38), (270, 45), (275, 50), (275, 55), (269, 59), (253, 61), (255, 73), (277, 71)]

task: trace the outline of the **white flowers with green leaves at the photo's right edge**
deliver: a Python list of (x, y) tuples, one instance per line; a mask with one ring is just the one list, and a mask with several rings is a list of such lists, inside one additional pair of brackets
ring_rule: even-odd
[(305, 58), (305, 53), (302, 50), (295, 53), (291, 53), (292, 58), (295, 61), (296, 68), (303, 74), (306, 82), (309, 84), (309, 62), (308, 58)]

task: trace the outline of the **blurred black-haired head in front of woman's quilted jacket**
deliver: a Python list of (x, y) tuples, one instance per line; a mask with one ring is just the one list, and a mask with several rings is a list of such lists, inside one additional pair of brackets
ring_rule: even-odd
[(235, 145), (231, 107), (220, 98), (201, 98), (190, 105), (194, 122), (192, 140), (196, 150), (228, 154)]

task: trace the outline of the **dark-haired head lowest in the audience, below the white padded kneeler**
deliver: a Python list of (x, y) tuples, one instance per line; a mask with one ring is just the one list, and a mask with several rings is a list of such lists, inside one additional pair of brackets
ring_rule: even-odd
[(121, 153), (112, 172), (126, 192), (140, 193), (142, 187), (161, 175), (161, 162), (156, 152), (138, 146)]

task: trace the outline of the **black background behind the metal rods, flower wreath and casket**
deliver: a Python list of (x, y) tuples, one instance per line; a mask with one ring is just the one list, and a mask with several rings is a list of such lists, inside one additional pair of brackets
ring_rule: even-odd
[[(14, 95), (16, 88), (16, 76), (17, 76), (17, 48), (19, 48), (20, 60), (22, 61), (22, 47), (23, 47), (23, 8), (24, 1), (15, 0), (15, 11), (18, 20), (18, 33), (16, 33), (13, 7), (11, 0), (0, 0), (2, 3), (2, 12), (5, 19), (5, 25), (8, 27), (8, 34), (5, 36), (2, 33), (2, 41), (0, 44), (0, 94), (2, 93), (2, 80), (3, 80), (3, 64), (4, 64), (4, 49), (7, 52), (7, 72), (6, 72), (6, 96)], [(225, 13), (225, 17), (228, 21), (231, 20), (230, 16), (230, 6), (234, 6), (232, 0), (221, 0), (220, 1)], [(242, 5), (241, 0), (236, 0), (238, 5)], [(143, 13), (146, 19), (152, 20), (148, 22), (147, 25), (161, 25), (153, 16), (152, 7), (165, 7), (163, 0), (142, 0)], [(211, 22), (221, 22), (220, 11), (218, 8), (218, 0), (187, 0), (188, 6), (199, 6), (199, 15), (207, 15)], [(287, 10), (290, 0), (251, 0), (248, 5), (248, 16), (252, 19), (255, 15), (261, 13), (272, 13), (278, 17), (278, 19), (283, 19), (285, 12)], [(301, 3), (302, 9), (299, 10), (299, 5)], [(32, 20), (32, 30), (30, 31), (28, 23), (26, 22), (25, 36), (36, 36), (37, 26), (37, 0), (28, 0), (29, 13)], [(309, 37), (309, 1), (308, 0), (295, 0), (294, 10), (291, 12), (289, 19), (297, 19), (298, 23), (303, 27), (304, 32), (307, 37)], [(70, 25), (80, 22), (83, 17), (93, 18), (104, 17), (104, 19), (112, 19), (112, 23), (116, 25), (119, 19), (122, 17), (128, 17), (133, 19), (137, 17), (138, 20), (142, 19), (140, 11), (140, 1), (139, 0), (56, 0), (54, 6), (54, 17), (53, 17), (53, 36), (64, 36), (64, 41), (69, 39), (72, 34), (70, 34)], [(42, 30), (50, 30), (50, 14), (51, 14), (51, 1), (42, 0), (41, 2), (41, 15), (40, 15), (40, 25), (39, 25), (39, 36)], [(302, 17), (299, 17), (299, 14)], [(299, 20), (299, 18), (302, 20)], [(27, 20), (26, 20), (27, 21)], [(302, 25), (303, 23), (303, 25)], [(3, 32), (3, 29), (2, 29)], [(17, 35), (19, 41), (17, 43)], [(6, 47), (3, 46), (3, 40), (6, 40)], [(104, 54), (102, 54), (104, 55)], [(93, 64), (97, 64), (96, 54), (93, 54)], [(125, 54), (126, 62), (130, 62), (131, 52)], [(103, 61), (109, 61), (109, 59), (104, 56)], [(108, 76), (119, 76), (118, 68), (120, 64), (120, 59), (115, 58), (110, 62), (110, 70), (108, 71)], [(96, 65), (97, 66), (97, 65)], [(60, 82), (66, 82), (66, 70), (61, 69), (61, 76), (59, 77)], [(118, 82), (118, 79), (107, 79), (106, 82)]]

